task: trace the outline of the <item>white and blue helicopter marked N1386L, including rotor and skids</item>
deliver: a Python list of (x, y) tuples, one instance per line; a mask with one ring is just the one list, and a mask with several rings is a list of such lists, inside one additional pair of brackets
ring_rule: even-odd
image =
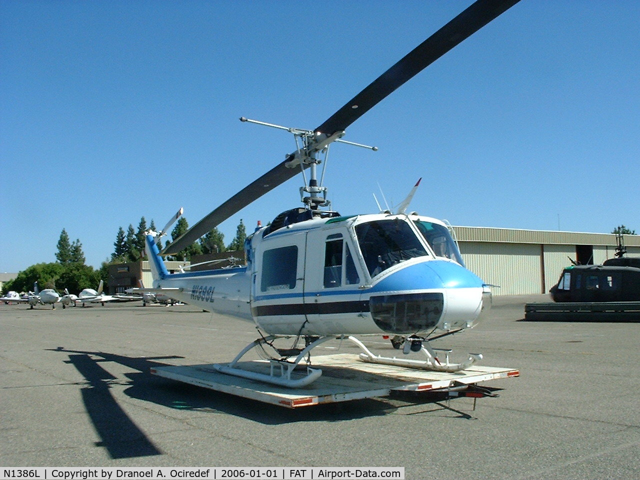
[[(331, 339), (355, 342), (364, 361), (408, 368), (454, 372), (480, 360), (481, 355), (469, 354), (463, 362), (451, 363), (448, 350), (438, 352), (429, 345), (429, 340), (472, 328), (491, 305), (489, 286), (465, 268), (447, 225), (406, 213), (412, 195), (396, 212), (341, 216), (326, 209), (326, 187), (317, 180), (317, 166), (323, 163), (322, 155), (326, 164), (330, 143), (351, 143), (340, 139), (355, 120), (517, 1), (476, 1), (313, 131), (241, 118), (291, 132), (298, 148), (163, 252), (156, 244), (161, 234), (148, 232), (154, 288), (132, 290), (163, 292), (207, 311), (253, 321), (259, 339), (230, 364), (217, 368), (285, 387), (302, 387), (321, 375), (321, 370), (310, 367), (310, 351)], [(299, 172), (305, 180), (300, 188), (303, 207), (282, 212), (246, 239), (246, 265), (168, 273), (162, 255), (180, 252)], [(394, 336), (401, 339), (406, 355), (374, 355), (355, 335)], [(276, 348), (274, 341), (280, 338), (294, 339), (292, 346)], [(270, 374), (239, 364), (253, 348), (273, 350)], [(416, 355), (420, 357), (410, 358)], [(307, 368), (300, 372), (296, 367), (303, 360)]]

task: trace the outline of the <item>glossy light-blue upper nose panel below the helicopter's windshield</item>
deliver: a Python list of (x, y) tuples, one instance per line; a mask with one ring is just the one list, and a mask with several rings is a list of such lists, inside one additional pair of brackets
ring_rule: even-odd
[(455, 262), (429, 260), (405, 266), (375, 284), (369, 292), (482, 288), (483, 281)]

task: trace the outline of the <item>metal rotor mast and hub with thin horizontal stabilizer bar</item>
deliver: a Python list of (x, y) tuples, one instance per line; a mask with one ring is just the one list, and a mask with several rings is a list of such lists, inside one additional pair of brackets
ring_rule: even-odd
[[(294, 140), (296, 141), (296, 151), (285, 156), (285, 166), (287, 168), (300, 167), (302, 177), (305, 182), (305, 185), (300, 187), (300, 200), (305, 204), (305, 207), (311, 210), (317, 210), (318, 207), (328, 207), (331, 204), (330, 200), (326, 199), (327, 188), (326, 186), (323, 186), (324, 170), (326, 169), (326, 162), (328, 160), (329, 147), (331, 143), (339, 141), (340, 143), (354, 145), (355, 147), (369, 148), (374, 152), (378, 150), (378, 147), (369, 147), (369, 145), (362, 145), (362, 143), (341, 140), (345, 134), (344, 130), (328, 135), (326, 133), (314, 132), (312, 130), (295, 129), (283, 127), (282, 125), (268, 124), (267, 122), (252, 120), (250, 118), (245, 118), (244, 116), (240, 117), (240, 121), (286, 130), (293, 134)], [(321, 159), (321, 155), (324, 155), (324, 159)], [(323, 161), (323, 170), (320, 181), (318, 182), (317, 166), (323, 163)], [(308, 182), (305, 175), (305, 168), (307, 167), (309, 168)]]

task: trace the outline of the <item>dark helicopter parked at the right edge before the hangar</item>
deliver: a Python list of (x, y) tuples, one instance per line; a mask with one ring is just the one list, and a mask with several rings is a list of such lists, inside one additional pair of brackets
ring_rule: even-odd
[(579, 265), (563, 269), (549, 294), (553, 301), (603, 302), (640, 301), (640, 258), (625, 257), (622, 234), (616, 234), (618, 246), (614, 258), (602, 265)]

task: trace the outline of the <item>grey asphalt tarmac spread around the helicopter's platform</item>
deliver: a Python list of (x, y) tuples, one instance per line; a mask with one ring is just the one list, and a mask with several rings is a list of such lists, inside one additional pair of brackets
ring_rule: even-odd
[[(530, 322), (527, 301), (436, 340), (520, 369), (499, 397), (287, 410), (149, 374), (228, 362), (253, 324), (189, 305), (0, 305), (0, 465), (404, 467), (407, 479), (636, 479), (640, 323)], [(381, 339), (374, 353), (392, 354)], [(356, 353), (332, 341), (316, 355)], [(474, 408), (475, 403), (475, 408)]]

